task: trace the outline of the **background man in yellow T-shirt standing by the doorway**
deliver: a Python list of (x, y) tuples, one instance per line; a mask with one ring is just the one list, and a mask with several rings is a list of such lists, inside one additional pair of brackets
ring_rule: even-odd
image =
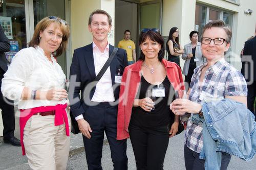
[(128, 65), (131, 65), (134, 62), (136, 62), (135, 44), (130, 39), (130, 37), (131, 31), (125, 30), (123, 40), (119, 41), (118, 43), (118, 48), (123, 48), (124, 50), (126, 50)]

